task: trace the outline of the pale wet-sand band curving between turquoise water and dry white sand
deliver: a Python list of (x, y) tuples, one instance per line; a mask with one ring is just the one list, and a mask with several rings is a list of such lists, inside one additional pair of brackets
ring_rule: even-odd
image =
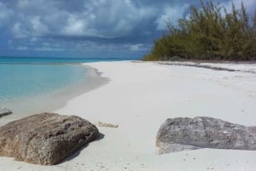
[[(67, 105), (68, 100), (71, 100), (80, 94), (84, 94), (95, 88), (101, 87), (109, 82), (108, 78), (102, 77), (95, 68), (84, 66), (82, 64), (79, 65), (81, 65), (81, 67), (86, 67), (86, 72), (88, 73), (86, 73), (78, 83), (73, 83), (64, 88), (55, 89), (47, 94), (37, 94), (33, 96), (16, 98), (15, 100), (3, 101), (1, 105), (9, 108), (11, 111), (13, 111), (13, 113), (9, 116), (2, 117), (0, 119), (0, 125), (5, 123), (3, 120), (12, 121), (40, 112), (55, 111)], [(38, 103), (35, 103), (35, 101)]]

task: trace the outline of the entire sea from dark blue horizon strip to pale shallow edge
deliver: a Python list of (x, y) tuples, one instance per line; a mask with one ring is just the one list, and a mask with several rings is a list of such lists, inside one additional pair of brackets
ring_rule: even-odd
[(95, 69), (79, 63), (117, 60), (121, 59), (0, 57), (0, 107), (18, 115), (55, 110), (108, 83)]

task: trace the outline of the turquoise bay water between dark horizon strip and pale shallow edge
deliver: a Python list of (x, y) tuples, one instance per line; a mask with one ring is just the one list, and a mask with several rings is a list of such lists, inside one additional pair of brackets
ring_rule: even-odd
[(53, 92), (86, 76), (80, 65), (0, 64), (0, 102)]

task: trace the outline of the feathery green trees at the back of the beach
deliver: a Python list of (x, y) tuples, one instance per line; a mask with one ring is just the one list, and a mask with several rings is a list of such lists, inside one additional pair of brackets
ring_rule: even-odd
[(190, 8), (189, 17), (167, 23), (143, 60), (256, 60), (256, 10), (249, 16), (233, 4), (232, 11), (212, 2)]

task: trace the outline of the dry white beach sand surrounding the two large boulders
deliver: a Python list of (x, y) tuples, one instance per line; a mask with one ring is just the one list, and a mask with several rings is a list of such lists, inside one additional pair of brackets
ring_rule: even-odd
[(119, 124), (119, 128), (99, 128), (102, 140), (59, 165), (0, 157), (1, 171), (256, 170), (256, 151), (201, 149), (157, 155), (154, 146), (158, 128), (168, 117), (208, 116), (256, 125), (256, 74), (129, 61), (86, 65), (101, 71), (110, 83), (79, 95), (56, 112), (92, 123)]

